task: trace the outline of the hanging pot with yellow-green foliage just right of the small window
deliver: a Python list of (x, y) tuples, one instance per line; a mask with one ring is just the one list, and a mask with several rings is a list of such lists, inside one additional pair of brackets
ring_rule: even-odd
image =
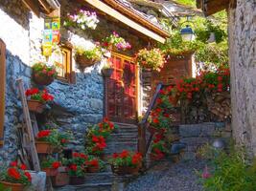
[(89, 50), (84, 49), (83, 47), (76, 47), (75, 50), (75, 59), (76, 62), (80, 65), (81, 70), (94, 65), (96, 62), (102, 59), (103, 53), (99, 46)]

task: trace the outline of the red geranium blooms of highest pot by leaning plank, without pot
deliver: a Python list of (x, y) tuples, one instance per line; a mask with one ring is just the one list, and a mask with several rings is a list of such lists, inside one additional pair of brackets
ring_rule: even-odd
[(39, 91), (37, 88), (28, 89), (25, 95), (42, 103), (54, 100), (54, 96), (50, 95), (47, 90)]

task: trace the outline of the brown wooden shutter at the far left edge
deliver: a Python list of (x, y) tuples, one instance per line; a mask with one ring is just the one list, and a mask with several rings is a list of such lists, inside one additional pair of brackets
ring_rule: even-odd
[(0, 146), (4, 144), (6, 45), (0, 39)]

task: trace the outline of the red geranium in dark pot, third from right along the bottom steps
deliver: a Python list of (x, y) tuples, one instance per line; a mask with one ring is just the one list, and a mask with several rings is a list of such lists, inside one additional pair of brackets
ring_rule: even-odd
[(85, 162), (87, 159), (88, 156), (83, 153), (73, 153), (72, 159), (68, 160), (68, 175), (70, 177), (71, 185), (84, 183), (86, 172)]

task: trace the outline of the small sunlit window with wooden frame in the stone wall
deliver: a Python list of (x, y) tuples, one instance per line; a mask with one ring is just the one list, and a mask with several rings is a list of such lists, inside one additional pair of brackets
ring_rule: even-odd
[(58, 79), (74, 83), (75, 73), (72, 71), (72, 50), (69, 47), (58, 47), (49, 57), (49, 63), (56, 66)]

